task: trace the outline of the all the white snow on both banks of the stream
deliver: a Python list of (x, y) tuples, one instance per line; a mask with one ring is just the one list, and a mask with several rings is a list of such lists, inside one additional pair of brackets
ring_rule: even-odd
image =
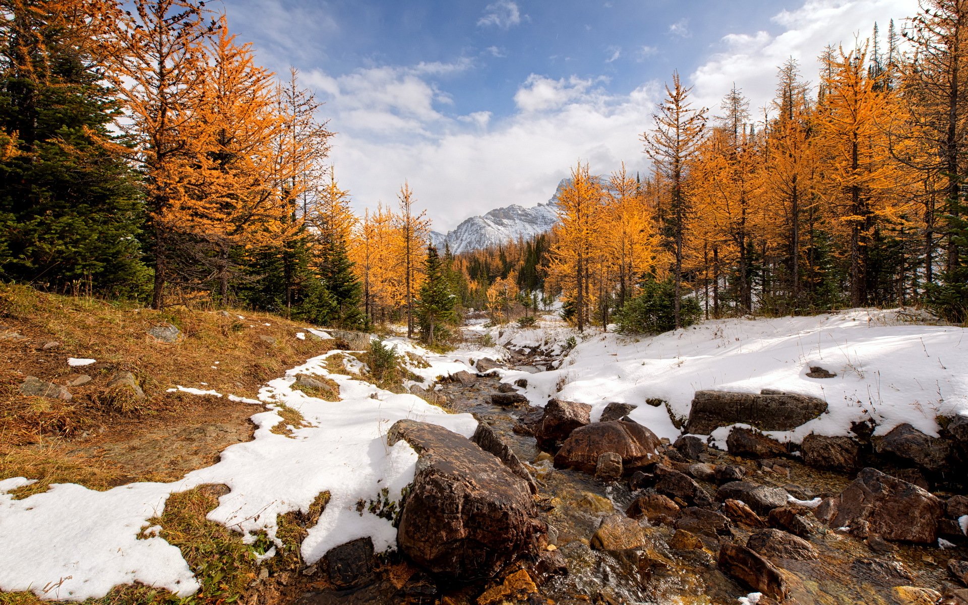
[[(558, 367), (537, 374), (497, 371), (506, 382), (527, 377), (525, 393), (534, 406), (557, 396), (591, 404), (595, 419), (609, 402), (636, 404), (630, 414), (634, 420), (659, 437), (675, 439), (680, 432), (666, 408), (646, 405), (647, 398), (667, 401), (679, 416), (688, 414), (697, 389), (775, 388), (825, 398), (828, 412), (794, 431), (771, 434), (799, 441), (810, 432), (846, 435), (852, 422), (868, 419), (877, 424), (877, 434), (909, 422), (936, 435), (938, 414), (968, 415), (966, 329), (910, 317), (901, 310), (851, 310), (808, 318), (719, 319), (638, 338), (594, 331), (579, 335), (554, 318), (540, 322), (538, 329), (466, 329), (489, 333), (507, 348), (566, 353)], [(571, 336), (578, 344), (568, 351)], [(475, 359), (505, 352), (497, 347), (437, 354), (406, 339), (388, 340), (400, 352), (414, 352), (429, 362), (429, 367), (410, 368), (428, 382), (470, 370)], [(302, 544), (308, 562), (363, 536), (371, 536), (378, 550), (394, 548), (396, 533), (389, 522), (367, 510), (357, 512), (355, 506), (359, 499), (377, 499), (384, 487), (391, 498), (399, 498), (412, 481), (416, 454), (406, 441), (387, 446), (386, 432), (396, 420), (414, 418), (469, 436), (476, 420), (348, 374), (330, 373), (325, 361), (334, 354), (339, 351), (271, 380), (261, 389), (260, 401), (251, 401), (295, 408), (308, 421), (306, 426), (293, 428), (291, 438), (276, 435), (270, 429), (282, 416), (259, 411), (253, 416), (253, 441), (227, 447), (219, 463), (190, 472), (181, 481), (134, 483), (106, 492), (60, 484), (26, 499), (13, 499), (8, 492), (30, 479), (0, 481), (0, 590), (83, 600), (138, 581), (180, 595), (194, 592), (198, 585), (188, 564), (157, 529), (148, 527), (148, 519), (162, 513), (170, 494), (204, 483), (230, 488), (209, 519), (249, 539), (257, 531), (274, 538), (278, 514), (306, 510), (328, 490), (332, 499)], [(807, 378), (814, 365), (836, 377)], [(326, 402), (293, 390), (300, 373), (334, 379), (342, 401)], [(727, 433), (728, 428), (719, 429), (711, 437), (721, 443)]]

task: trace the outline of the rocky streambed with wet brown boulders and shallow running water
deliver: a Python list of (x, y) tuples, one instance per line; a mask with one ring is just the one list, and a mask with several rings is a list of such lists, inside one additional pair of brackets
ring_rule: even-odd
[[(733, 429), (721, 451), (658, 439), (627, 404), (596, 422), (583, 404), (531, 408), (492, 367), (437, 391), (480, 421), (472, 439), (412, 421), (390, 432), (420, 454), (401, 552), (341, 547), (323, 561), (331, 588), (300, 602), (968, 604), (965, 440), (947, 428), (943, 443), (858, 428), (792, 453)], [(750, 405), (718, 408), (740, 422)]]

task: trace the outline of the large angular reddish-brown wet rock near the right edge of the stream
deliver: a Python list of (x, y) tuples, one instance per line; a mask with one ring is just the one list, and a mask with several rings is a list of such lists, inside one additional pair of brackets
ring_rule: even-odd
[(941, 499), (877, 469), (862, 469), (835, 498), (826, 499), (816, 516), (832, 528), (866, 524), (887, 540), (933, 543), (938, 537)]

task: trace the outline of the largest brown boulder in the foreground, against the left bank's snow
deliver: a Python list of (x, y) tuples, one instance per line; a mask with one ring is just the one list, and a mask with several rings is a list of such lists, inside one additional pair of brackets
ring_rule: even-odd
[(528, 482), (499, 459), (442, 427), (399, 420), (390, 445), (406, 440), (419, 455), (397, 541), (418, 565), (462, 581), (493, 576), (534, 554), (544, 524)]

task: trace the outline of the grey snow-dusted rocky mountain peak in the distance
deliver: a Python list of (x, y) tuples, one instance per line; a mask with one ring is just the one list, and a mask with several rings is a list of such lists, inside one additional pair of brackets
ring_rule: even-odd
[(431, 231), (431, 242), (440, 251), (445, 243), (449, 244), (450, 251), (456, 255), (503, 244), (521, 236), (544, 233), (558, 222), (558, 194), (567, 182), (563, 179), (559, 183), (555, 195), (547, 203), (531, 208), (517, 204), (495, 208), (484, 215), (470, 217), (446, 234)]

